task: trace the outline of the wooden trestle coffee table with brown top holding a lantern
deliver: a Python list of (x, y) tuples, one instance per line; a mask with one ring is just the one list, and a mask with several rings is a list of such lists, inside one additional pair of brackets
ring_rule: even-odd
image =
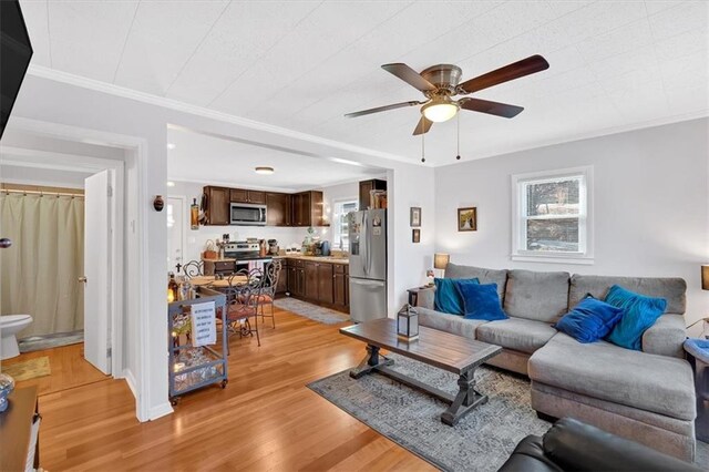
[[(340, 332), (367, 342), (367, 356), (357, 368), (350, 371), (350, 377), (359, 379), (368, 373), (379, 372), (411, 388), (422, 390), (450, 404), (441, 414), (441, 421), (449, 425), (454, 425), (475, 407), (487, 401), (487, 396), (475, 390), (475, 368), (502, 351), (500, 346), (423, 326), (419, 328), (418, 340), (403, 341), (397, 336), (397, 321), (389, 318), (340, 328)], [(456, 373), (460, 376), (458, 394), (452, 396), (389, 369), (394, 361), (381, 356), (380, 349)]]

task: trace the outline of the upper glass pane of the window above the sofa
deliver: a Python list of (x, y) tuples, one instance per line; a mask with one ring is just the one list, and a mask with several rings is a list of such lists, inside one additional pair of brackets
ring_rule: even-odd
[(578, 178), (526, 185), (527, 216), (578, 215)]

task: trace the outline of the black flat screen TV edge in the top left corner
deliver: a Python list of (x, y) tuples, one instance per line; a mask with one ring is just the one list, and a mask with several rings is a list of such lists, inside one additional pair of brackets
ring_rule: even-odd
[(18, 0), (0, 0), (0, 138), (24, 79), (32, 44)]

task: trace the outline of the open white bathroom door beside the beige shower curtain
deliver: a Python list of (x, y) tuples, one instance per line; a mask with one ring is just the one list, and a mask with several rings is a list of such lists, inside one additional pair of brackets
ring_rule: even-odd
[(84, 358), (106, 374), (111, 373), (111, 171), (84, 181)]

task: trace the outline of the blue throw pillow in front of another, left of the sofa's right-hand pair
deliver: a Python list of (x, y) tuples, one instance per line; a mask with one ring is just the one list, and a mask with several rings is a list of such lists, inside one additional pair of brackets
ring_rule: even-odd
[(623, 317), (623, 308), (586, 297), (564, 315), (554, 328), (578, 342), (595, 342), (605, 338), (620, 321), (620, 317)]

